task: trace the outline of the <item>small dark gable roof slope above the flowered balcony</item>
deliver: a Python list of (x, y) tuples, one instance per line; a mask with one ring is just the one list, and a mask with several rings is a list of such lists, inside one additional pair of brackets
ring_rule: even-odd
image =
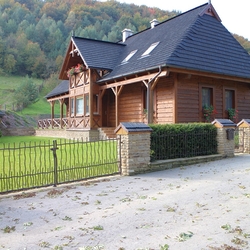
[(112, 70), (125, 47), (124, 44), (72, 37), (83, 61), (89, 68)]

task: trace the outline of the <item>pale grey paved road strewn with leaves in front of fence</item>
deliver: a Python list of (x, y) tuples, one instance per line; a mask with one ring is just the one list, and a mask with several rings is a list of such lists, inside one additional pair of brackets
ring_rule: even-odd
[(250, 155), (2, 195), (0, 249), (250, 249)]

